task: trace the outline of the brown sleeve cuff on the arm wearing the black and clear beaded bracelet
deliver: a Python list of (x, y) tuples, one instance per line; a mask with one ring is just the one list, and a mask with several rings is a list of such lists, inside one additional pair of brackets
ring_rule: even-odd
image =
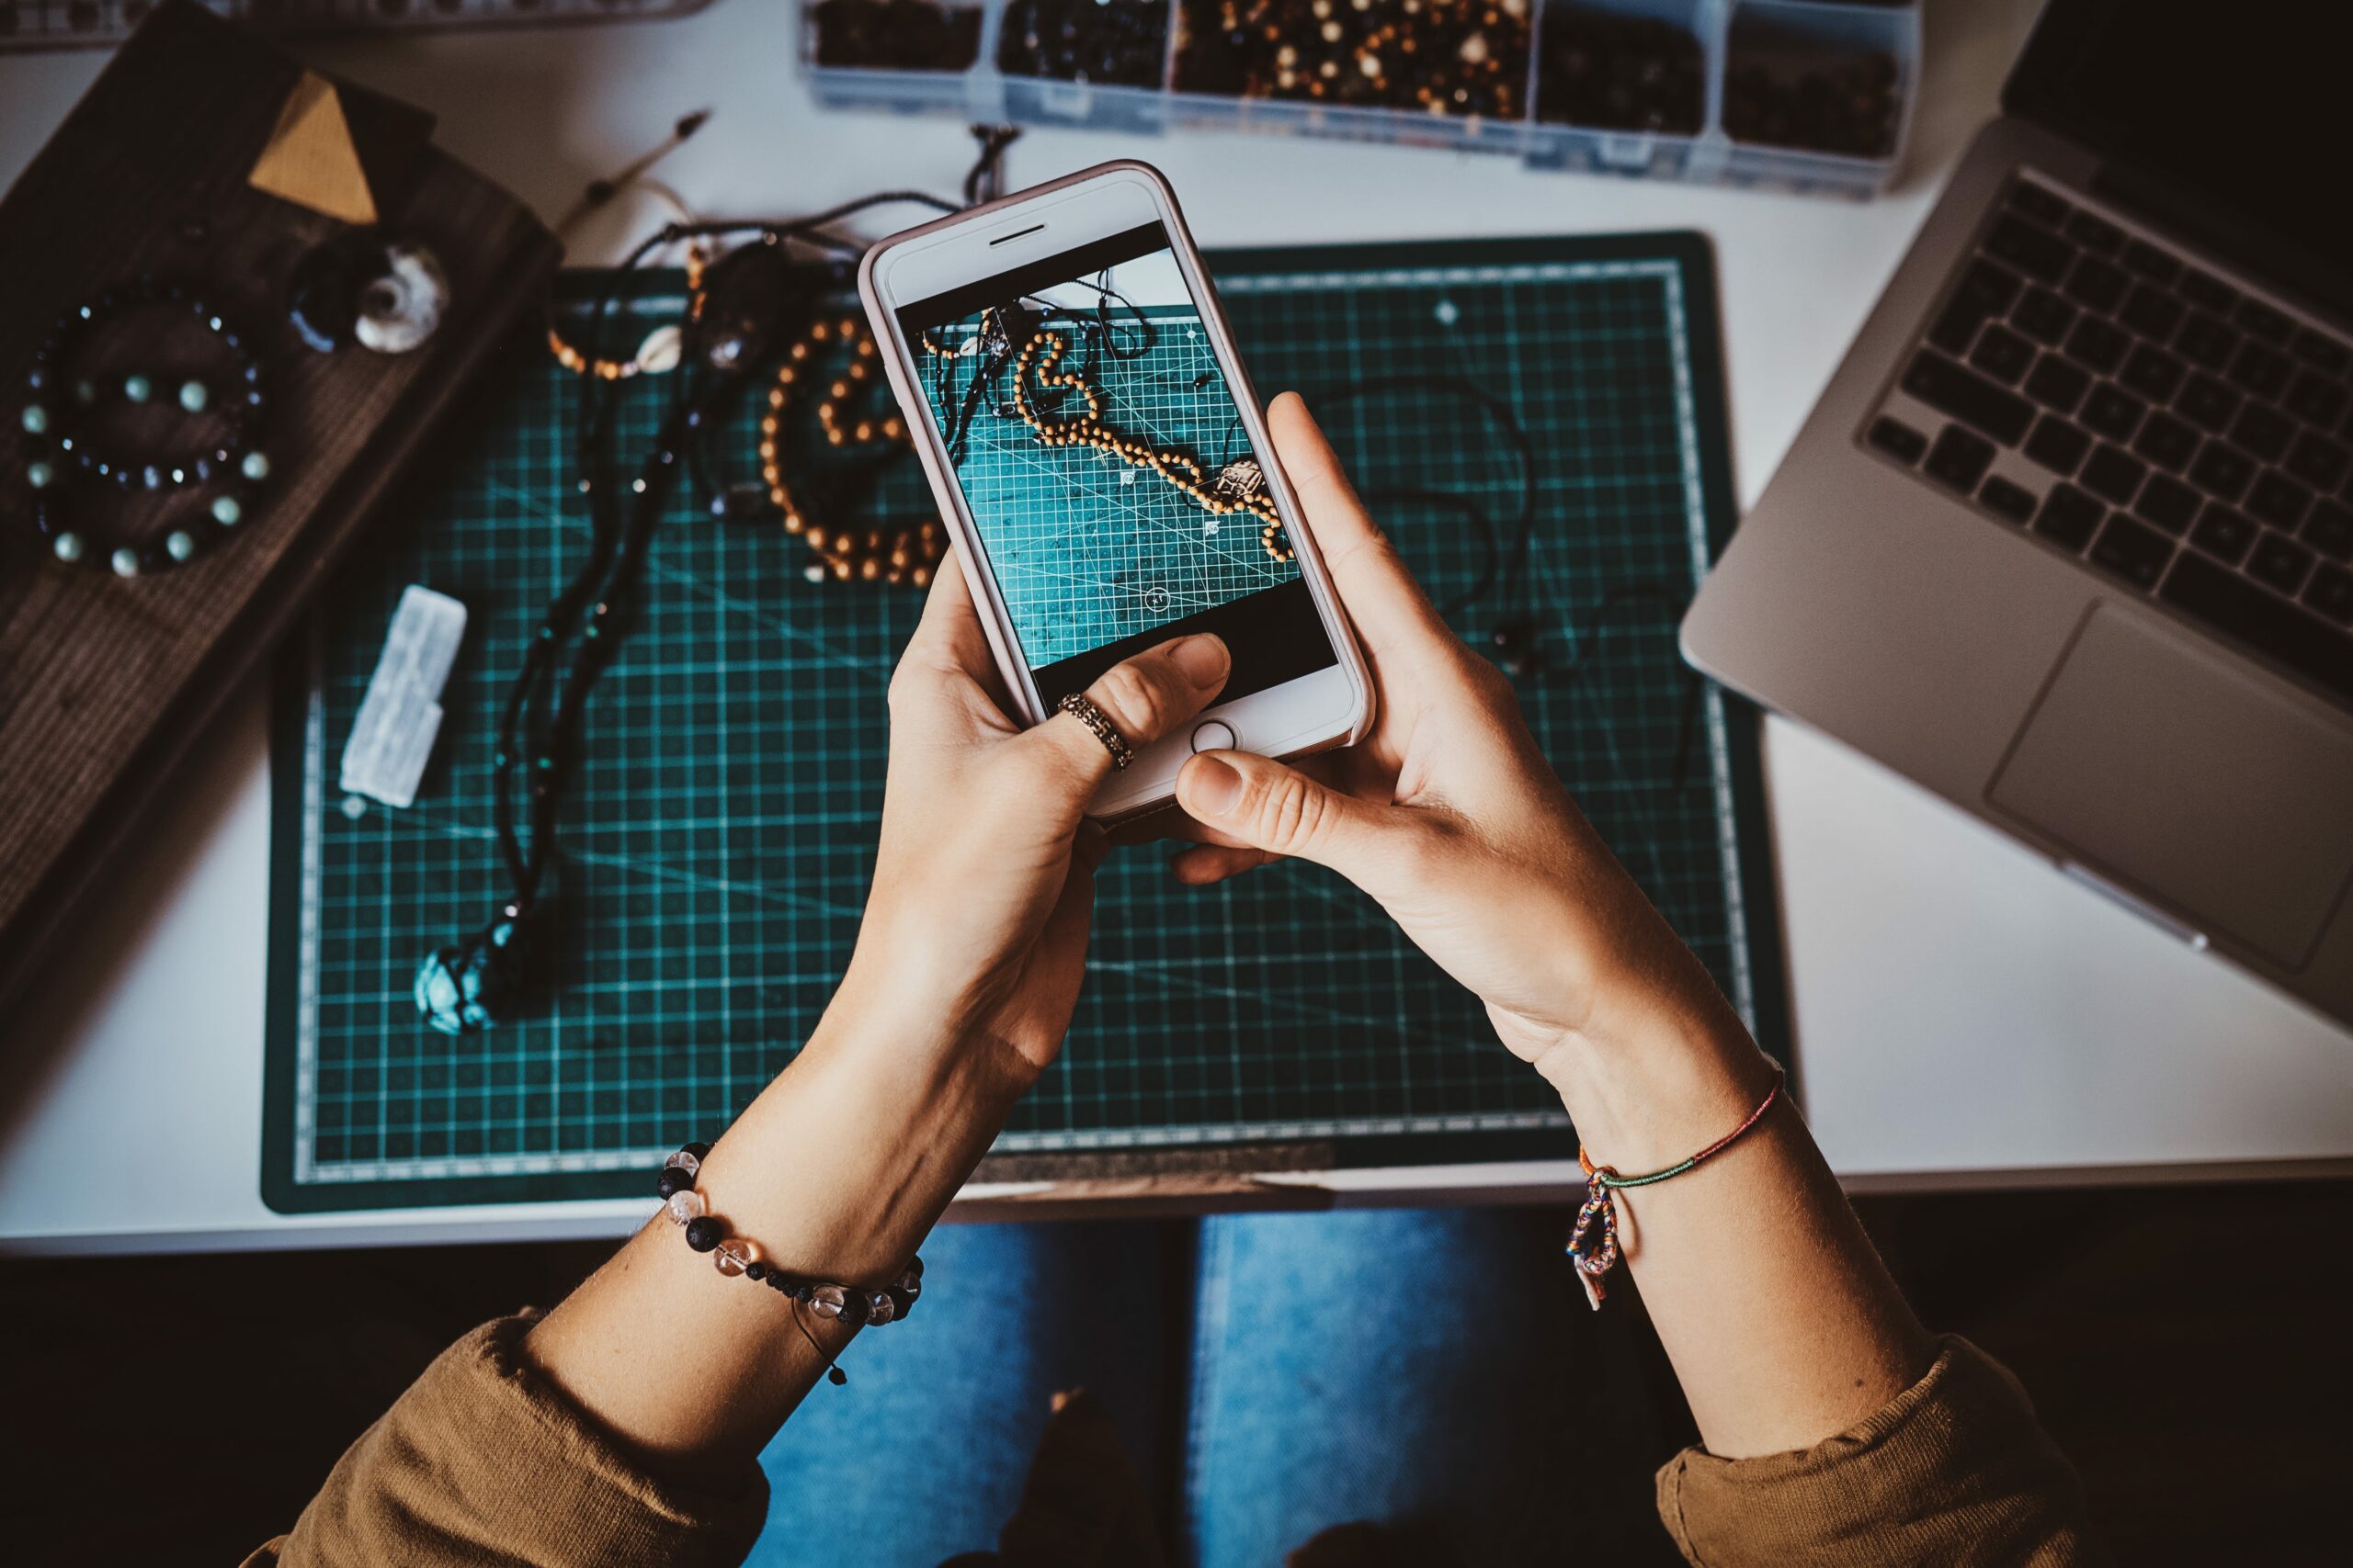
[(445, 1349), (247, 1568), (741, 1563), (767, 1516), (760, 1469), (694, 1488), (649, 1479), (520, 1356), (534, 1319)]

